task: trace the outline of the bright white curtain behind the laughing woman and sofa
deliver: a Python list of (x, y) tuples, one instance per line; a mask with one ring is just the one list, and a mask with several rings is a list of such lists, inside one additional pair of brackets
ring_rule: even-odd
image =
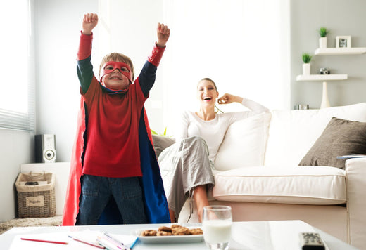
[[(216, 82), (273, 109), (289, 108), (289, 0), (164, 0), (164, 124), (197, 110), (196, 85)], [(220, 106), (225, 112), (240, 105)]]

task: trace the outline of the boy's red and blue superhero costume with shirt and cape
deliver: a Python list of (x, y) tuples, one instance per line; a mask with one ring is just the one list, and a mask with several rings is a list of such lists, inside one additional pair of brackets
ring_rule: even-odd
[[(153, 150), (149, 122), (144, 110), (144, 100), (146, 100), (146, 98), (149, 96), (149, 89), (155, 81), (156, 67), (158, 66), (158, 62), (163, 55), (163, 51), (164, 48), (158, 48), (157, 46), (153, 49), (152, 55), (148, 58), (148, 61), (141, 70), (140, 76), (137, 77), (136, 81), (134, 81), (134, 84), (131, 82), (131, 77), (129, 78), (130, 84), (132, 85), (130, 85), (127, 91), (113, 91), (102, 86), (92, 73), (92, 63), (90, 62), (90, 56), (92, 53), (92, 36), (86, 36), (83, 34), (80, 36), (80, 48), (78, 52), (78, 75), (80, 81), (86, 82), (87, 86), (84, 86), (86, 89), (84, 89), (83, 86), (81, 88), (82, 98), (80, 102), (80, 112), (77, 118), (77, 137), (73, 147), (71, 159), (70, 178), (67, 192), (68, 195), (65, 200), (65, 208), (63, 213), (63, 225), (75, 225), (77, 213), (79, 212), (79, 197), (81, 192), (80, 178), (83, 173), (107, 177), (140, 176), (141, 189), (144, 193), (146, 218), (148, 219), (149, 223), (170, 222), (168, 204), (166, 202), (163, 182), (160, 176), (160, 169), (156, 160), (156, 154)], [(113, 98), (111, 99), (111, 96), (123, 95), (121, 98), (129, 98), (127, 103), (131, 105), (130, 107), (140, 107), (139, 110), (130, 109), (129, 114), (134, 115), (134, 119), (131, 121), (133, 124), (130, 126), (130, 130), (132, 132), (127, 133), (130, 136), (126, 138), (128, 140), (128, 145), (122, 150), (124, 152), (122, 153), (122, 156), (112, 154), (110, 157), (103, 157), (102, 154), (98, 155), (99, 149), (101, 147), (99, 143), (103, 143), (103, 139), (106, 137), (90, 133), (89, 127), (98, 126), (95, 124), (97, 124), (96, 121), (99, 120), (93, 118), (94, 114), (92, 114), (91, 110), (101, 109), (102, 107), (99, 106), (101, 106), (100, 103), (103, 102), (100, 101), (96, 107), (90, 107), (87, 96), (90, 93), (89, 91), (91, 93), (94, 92), (94, 95), (97, 98), (107, 98), (108, 100), (113, 100)], [(142, 95), (144, 95), (145, 98), (141, 99)], [(135, 100), (134, 97), (139, 98), (136, 98), (138, 100)], [(125, 112), (129, 111), (125, 110)], [(96, 114), (98, 115), (102, 113), (103, 112), (101, 111), (96, 111)], [(118, 117), (118, 114), (115, 114), (114, 117)], [(108, 123), (108, 121), (103, 119), (101, 121)], [(101, 131), (103, 133), (105, 130), (103, 131), (99, 129), (99, 132)], [(116, 130), (109, 134), (113, 137), (114, 133), (118, 132), (119, 131)], [(108, 131), (106, 131), (106, 134), (108, 134)], [(96, 136), (96, 138), (102, 138), (102, 140), (94, 140), (92, 138), (93, 136)], [(87, 140), (99, 142), (93, 146), (99, 146), (99, 148), (94, 148), (93, 150), (93, 147), (89, 147), (89, 144), (87, 147)], [(117, 143), (119, 146), (121, 146), (120, 141), (114, 143)], [(123, 143), (125, 142), (122, 141), (122, 144)], [(130, 154), (132, 154), (132, 156)], [(106, 172), (103, 172), (106, 169), (104, 166), (108, 164), (113, 165), (113, 159), (120, 160), (125, 158), (127, 159), (126, 162), (117, 162), (113, 167), (109, 167)], [(108, 162), (108, 164), (106, 164), (106, 162)], [(93, 168), (84, 169), (84, 166), (92, 166), (92, 164), (97, 166), (95, 173), (92, 172), (94, 171)], [(134, 164), (139, 164), (139, 168), (134, 168)], [(104, 210), (99, 223), (120, 223), (120, 213), (115, 206), (113, 199), (111, 199), (110, 204), (108, 204)]]

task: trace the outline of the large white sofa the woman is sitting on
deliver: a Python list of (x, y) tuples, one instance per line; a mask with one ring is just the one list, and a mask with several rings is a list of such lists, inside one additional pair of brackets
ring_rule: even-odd
[[(348, 159), (345, 169), (298, 166), (332, 117), (366, 122), (366, 103), (274, 110), (232, 124), (215, 160), (210, 204), (232, 206), (234, 221), (299, 219), (366, 249), (366, 158)], [(188, 218), (186, 202), (179, 222)]]

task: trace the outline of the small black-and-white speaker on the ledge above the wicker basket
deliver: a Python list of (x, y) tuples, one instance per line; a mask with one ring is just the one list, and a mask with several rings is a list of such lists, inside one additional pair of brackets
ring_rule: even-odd
[(37, 163), (56, 162), (55, 135), (36, 135), (34, 142)]

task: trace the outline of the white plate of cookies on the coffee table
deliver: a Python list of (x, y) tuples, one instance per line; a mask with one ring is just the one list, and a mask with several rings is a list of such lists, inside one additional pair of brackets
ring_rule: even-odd
[(203, 231), (201, 228), (184, 227), (178, 224), (141, 229), (137, 230), (136, 234), (141, 242), (149, 244), (203, 241)]

